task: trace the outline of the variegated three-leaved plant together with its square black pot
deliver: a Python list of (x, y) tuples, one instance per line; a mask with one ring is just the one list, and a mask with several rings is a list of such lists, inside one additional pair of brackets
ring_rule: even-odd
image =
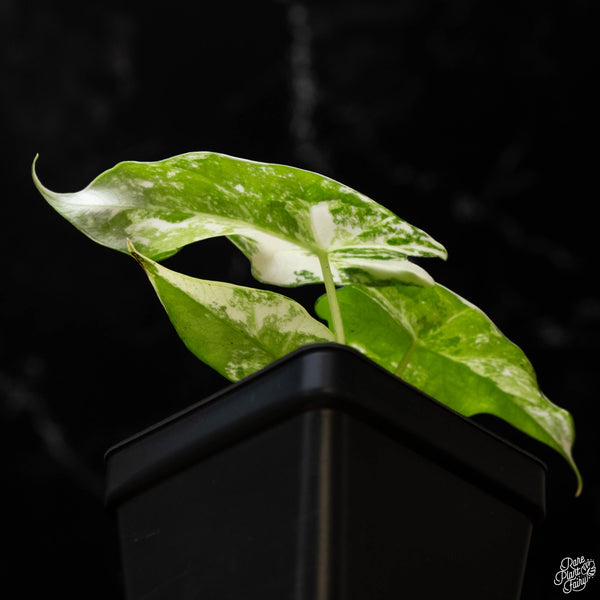
[[(234, 382), (107, 454), (128, 598), (519, 597), (544, 466), (469, 417), (559, 452), (579, 494), (573, 421), (409, 260), (441, 244), (327, 177), (211, 152), (120, 163), (77, 193), (46, 189), (35, 161), (33, 178), (135, 258), (186, 346)], [(159, 263), (214, 236), (258, 281), (323, 283), (322, 320)]]

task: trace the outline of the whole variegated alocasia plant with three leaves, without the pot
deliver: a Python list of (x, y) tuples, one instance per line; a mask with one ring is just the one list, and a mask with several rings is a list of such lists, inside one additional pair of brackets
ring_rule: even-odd
[[(75, 227), (137, 260), (187, 347), (231, 381), (305, 344), (347, 343), (458, 412), (493, 414), (549, 445), (581, 491), (571, 415), (478, 308), (409, 260), (445, 258), (443, 246), (366, 196), (316, 173), (212, 152), (119, 163), (76, 193), (46, 189), (35, 161), (33, 179)], [(331, 329), (281, 294), (157, 262), (215, 236), (227, 236), (261, 282), (324, 283), (316, 311)]]

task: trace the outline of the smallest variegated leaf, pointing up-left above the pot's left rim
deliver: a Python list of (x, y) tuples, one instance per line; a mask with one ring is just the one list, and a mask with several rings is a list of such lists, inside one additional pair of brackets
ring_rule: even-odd
[(146, 258), (130, 245), (185, 345), (237, 381), (292, 350), (333, 341), (325, 325), (274, 292), (204, 281)]

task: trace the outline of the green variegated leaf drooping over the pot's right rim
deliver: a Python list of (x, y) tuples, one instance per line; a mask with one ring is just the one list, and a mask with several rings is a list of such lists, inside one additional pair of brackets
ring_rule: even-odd
[[(571, 415), (546, 398), (525, 354), (476, 306), (437, 284), (348, 286), (337, 296), (350, 346), (465, 416), (495, 415), (549, 445), (580, 493)], [(330, 318), (325, 296), (316, 309)]]

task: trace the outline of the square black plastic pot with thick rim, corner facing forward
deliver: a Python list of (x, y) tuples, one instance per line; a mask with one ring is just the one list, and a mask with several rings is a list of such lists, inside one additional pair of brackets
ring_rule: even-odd
[(107, 453), (129, 600), (519, 598), (545, 467), (308, 346)]

